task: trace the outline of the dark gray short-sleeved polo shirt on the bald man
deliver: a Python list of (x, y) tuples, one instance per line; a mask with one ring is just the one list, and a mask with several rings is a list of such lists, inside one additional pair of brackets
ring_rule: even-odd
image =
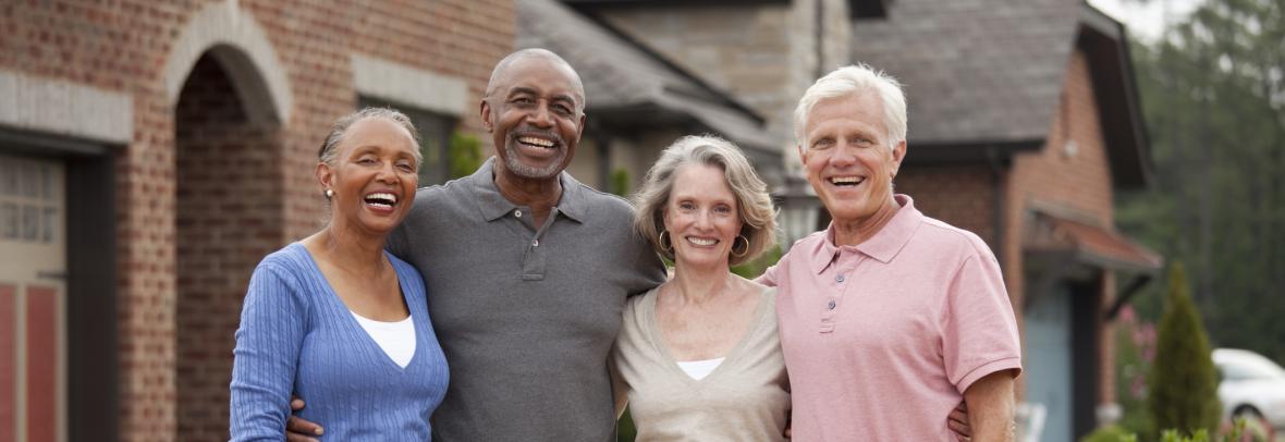
[(388, 248), (424, 275), (450, 365), (434, 441), (614, 441), (607, 358), (630, 294), (664, 280), (632, 207), (563, 172), (542, 226), (504, 199), (495, 158), (419, 189)]

